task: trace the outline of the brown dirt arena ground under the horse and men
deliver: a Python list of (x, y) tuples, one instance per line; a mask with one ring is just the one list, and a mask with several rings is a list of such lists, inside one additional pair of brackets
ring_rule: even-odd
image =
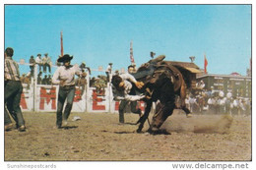
[[(72, 121), (74, 116), (81, 120)], [(194, 115), (175, 110), (162, 125), (170, 135), (142, 134), (138, 115), (72, 113), (65, 129), (54, 129), (54, 113), (24, 113), (27, 132), (5, 132), (5, 160), (251, 160), (251, 117)], [(152, 117), (152, 115), (151, 115)]]

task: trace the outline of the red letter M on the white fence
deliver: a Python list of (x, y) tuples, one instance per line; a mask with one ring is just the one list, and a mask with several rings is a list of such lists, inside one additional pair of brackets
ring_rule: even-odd
[(44, 104), (49, 104), (51, 102), (51, 109), (56, 109), (56, 87), (53, 86), (49, 89), (45, 87), (40, 87), (40, 105), (39, 109), (44, 110)]

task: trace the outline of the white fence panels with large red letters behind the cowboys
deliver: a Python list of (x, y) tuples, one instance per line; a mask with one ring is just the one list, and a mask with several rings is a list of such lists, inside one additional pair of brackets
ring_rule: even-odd
[[(119, 102), (113, 100), (111, 89), (105, 88), (96, 91), (90, 87), (82, 95), (82, 90), (76, 87), (72, 112), (118, 112)], [(23, 111), (55, 112), (58, 102), (58, 85), (37, 85), (34, 93), (32, 89), (24, 87), (21, 98)], [(144, 110), (144, 102), (139, 102), (139, 107)]]

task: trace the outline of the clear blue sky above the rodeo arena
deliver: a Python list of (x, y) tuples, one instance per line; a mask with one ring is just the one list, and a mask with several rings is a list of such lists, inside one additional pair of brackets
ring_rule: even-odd
[(27, 63), (38, 53), (55, 62), (60, 31), (72, 64), (91, 69), (127, 69), (131, 41), (137, 66), (154, 51), (170, 61), (195, 56), (204, 69), (206, 54), (209, 74), (245, 76), (252, 53), (251, 5), (5, 5), (4, 14), (5, 48)]

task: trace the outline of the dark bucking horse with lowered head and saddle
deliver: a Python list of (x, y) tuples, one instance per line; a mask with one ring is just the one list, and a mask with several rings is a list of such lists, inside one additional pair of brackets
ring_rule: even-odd
[[(187, 117), (191, 116), (190, 110), (186, 108), (185, 104), (186, 89), (190, 87), (189, 71), (174, 66), (171, 62), (163, 61), (164, 58), (165, 56), (161, 55), (150, 60), (133, 74), (137, 81), (144, 83), (144, 87), (138, 90), (146, 94), (144, 101), (147, 105), (144, 115), (137, 122), (139, 124), (137, 133), (142, 132), (153, 102), (158, 101), (158, 104), (148, 130), (151, 134), (160, 132), (160, 126), (172, 114), (174, 109), (182, 109)], [(181, 103), (179, 106), (175, 104), (176, 96), (180, 97)]]

